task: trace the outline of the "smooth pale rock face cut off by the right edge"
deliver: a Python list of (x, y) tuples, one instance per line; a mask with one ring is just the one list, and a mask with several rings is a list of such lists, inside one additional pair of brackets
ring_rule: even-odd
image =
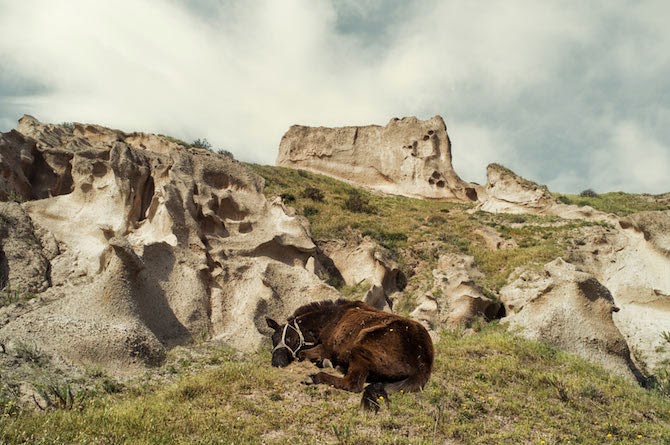
[(641, 212), (613, 227), (583, 229), (569, 260), (592, 273), (611, 292), (614, 321), (640, 366), (653, 372), (670, 360), (670, 212)]

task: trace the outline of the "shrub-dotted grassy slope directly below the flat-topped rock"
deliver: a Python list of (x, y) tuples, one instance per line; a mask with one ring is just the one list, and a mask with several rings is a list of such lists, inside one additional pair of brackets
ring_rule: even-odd
[[(478, 284), (495, 294), (517, 267), (540, 268), (565, 255), (579, 229), (592, 224), (554, 216), (470, 214), (472, 205), (381, 195), (327, 176), (284, 167), (249, 167), (265, 178), (269, 198), (291, 198), (287, 204), (309, 219), (314, 238), (355, 239), (354, 235), (367, 235), (389, 249), (410, 277), (409, 288), (415, 292), (425, 291), (432, 280), (430, 274), (419, 270), (430, 270), (441, 254), (455, 252), (474, 256), (483, 272)], [(314, 201), (305, 196), (305, 190), (318, 190), (323, 199)], [(363, 196), (374, 212), (348, 211), (345, 203), (352, 191)], [(493, 227), (517, 247), (490, 249), (476, 233), (483, 226)], [(413, 300), (416, 295), (406, 298)], [(410, 306), (399, 302), (398, 307)]]

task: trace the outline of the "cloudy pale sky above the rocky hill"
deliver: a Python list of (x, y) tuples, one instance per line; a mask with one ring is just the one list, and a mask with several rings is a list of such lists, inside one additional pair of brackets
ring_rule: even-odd
[(0, 0), (0, 131), (206, 138), (274, 164), (293, 124), (441, 115), (456, 172), (670, 191), (670, 2)]

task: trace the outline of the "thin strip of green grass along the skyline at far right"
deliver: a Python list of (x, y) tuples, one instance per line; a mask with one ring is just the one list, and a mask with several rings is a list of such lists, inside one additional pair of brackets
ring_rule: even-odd
[(592, 197), (560, 193), (555, 193), (554, 196), (564, 204), (578, 206), (588, 205), (601, 212), (614, 213), (619, 216), (626, 216), (631, 213), (647, 210), (670, 209), (669, 205), (657, 202), (652, 195), (612, 192), (597, 194)]

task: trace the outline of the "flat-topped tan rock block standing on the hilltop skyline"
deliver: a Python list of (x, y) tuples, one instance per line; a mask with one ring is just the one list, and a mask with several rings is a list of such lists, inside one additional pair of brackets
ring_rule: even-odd
[(477, 186), (456, 174), (440, 116), (391, 119), (385, 126), (292, 126), (277, 165), (323, 173), (385, 193), (421, 198), (477, 199)]

